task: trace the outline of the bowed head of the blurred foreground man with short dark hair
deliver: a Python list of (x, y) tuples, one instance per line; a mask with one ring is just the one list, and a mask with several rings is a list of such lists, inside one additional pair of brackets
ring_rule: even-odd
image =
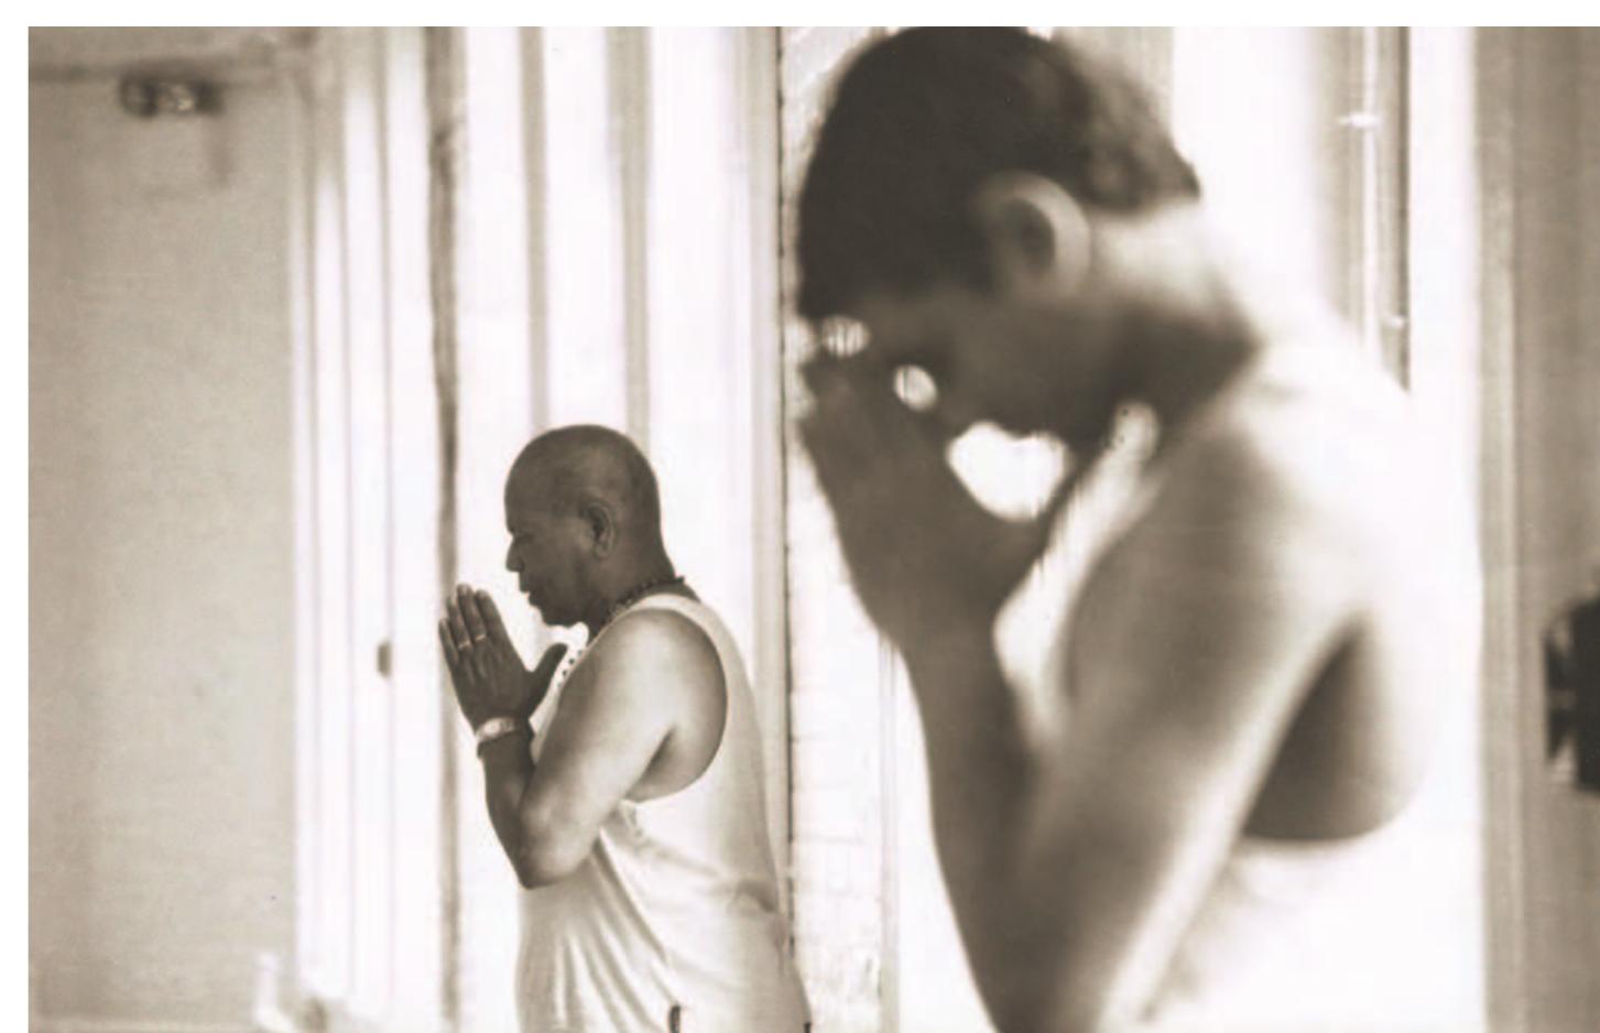
[[(1086, 54), (1013, 29), (901, 32), (854, 59), (819, 131), (800, 313), (856, 318), (923, 366), (957, 430), (1091, 435), (1138, 294), (1102, 275), (1098, 238), (1198, 192), (1142, 91)], [(1066, 427), (1062, 382), (1083, 393)]]

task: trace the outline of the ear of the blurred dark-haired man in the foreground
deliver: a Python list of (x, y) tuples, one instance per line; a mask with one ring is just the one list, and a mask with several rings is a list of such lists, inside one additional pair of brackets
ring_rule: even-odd
[(1090, 222), (1061, 184), (1034, 173), (990, 176), (973, 198), (973, 214), (1000, 296), (1066, 297), (1088, 277)]

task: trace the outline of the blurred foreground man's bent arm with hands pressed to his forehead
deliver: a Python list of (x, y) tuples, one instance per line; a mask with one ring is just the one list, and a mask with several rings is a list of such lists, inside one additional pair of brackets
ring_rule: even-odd
[(994, 627), (1074, 478), (1030, 524), (987, 512), (870, 360), (811, 360), (800, 430), (856, 593), (906, 656), (979, 990), (1006, 1033), (1126, 1022), (1349, 627), (1357, 550), (1296, 457), (1192, 441), (1083, 588), (1070, 723), (1035, 752)]

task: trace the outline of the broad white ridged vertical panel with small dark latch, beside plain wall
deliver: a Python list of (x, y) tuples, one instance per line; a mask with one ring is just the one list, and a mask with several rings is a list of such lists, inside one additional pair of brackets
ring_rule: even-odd
[(437, 1030), (438, 409), (418, 30), (338, 30), (294, 157), (298, 972), (344, 1020)]

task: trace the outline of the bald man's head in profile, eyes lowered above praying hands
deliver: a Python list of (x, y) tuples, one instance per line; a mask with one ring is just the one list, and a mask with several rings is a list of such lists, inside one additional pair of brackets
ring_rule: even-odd
[(506, 569), (550, 625), (603, 617), (666, 556), (650, 461), (606, 427), (560, 427), (522, 449), (506, 478)]

